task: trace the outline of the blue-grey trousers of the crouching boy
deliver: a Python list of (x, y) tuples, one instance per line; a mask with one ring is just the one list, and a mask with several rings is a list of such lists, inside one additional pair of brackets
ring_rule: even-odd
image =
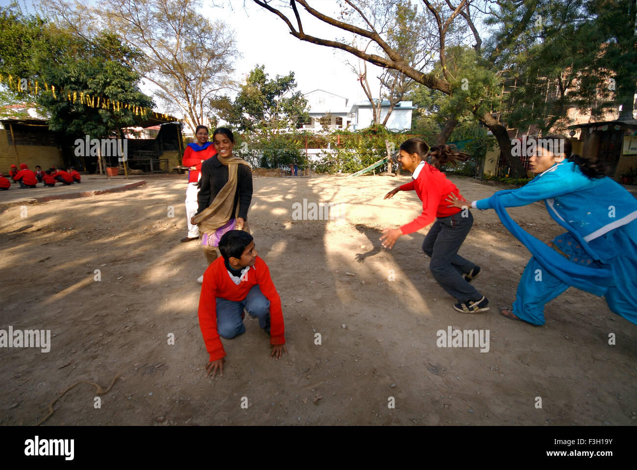
[(270, 332), (270, 301), (261, 293), (259, 285), (250, 289), (248, 295), (240, 302), (229, 301), (217, 297), (217, 332), (225, 339), (236, 338), (245, 333), (245, 325), (241, 314), (243, 309), (252, 318), (259, 318), (259, 326)]

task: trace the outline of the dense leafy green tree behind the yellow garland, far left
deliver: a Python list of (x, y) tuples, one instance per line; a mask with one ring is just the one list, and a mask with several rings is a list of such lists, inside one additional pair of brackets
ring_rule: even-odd
[(103, 32), (87, 41), (45, 18), (23, 15), (17, 4), (0, 9), (0, 29), (4, 37), (25, 38), (10, 45), (2, 41), (0, 73), (28, 80), (29, 88), (20, 94), (50, 113), (53, 131), (121, 137), (122, 127), (138, 122), (136, 108), (154, 106), (129, 65), (141, 58), (140, 52), (123, 45), (117, 35)]

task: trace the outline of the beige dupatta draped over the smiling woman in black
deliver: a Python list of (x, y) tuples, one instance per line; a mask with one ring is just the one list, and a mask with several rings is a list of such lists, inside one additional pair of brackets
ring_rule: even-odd
[[(240, 157), (221, 157), (217, 154), (217, 159), (228, 166), (228, 182), (217, 193), (210, 206), (192, 218), (193, 222), (199, 226), (199, 231), (211, 236), (219, 227), (223, 227), (233, 218), (234, 194), (237, 189), (237, 172), (239, 165), (247, 165), (252, 170), (250, 164)], [(234, 218), (239, 213), (239, 203)]]

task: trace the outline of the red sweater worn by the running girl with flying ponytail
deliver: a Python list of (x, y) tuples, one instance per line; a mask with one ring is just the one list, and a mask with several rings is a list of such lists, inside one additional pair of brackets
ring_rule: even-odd
[(418, 174), (418, 178), (400, 187), (401, 191), (416, 190), (416, 194), (422, 201), (422, 214), (409, 224), (400, 227), (403, 235), (419, 231), (423, 227), (431, 224), (436, 217), (449, 217), (457, 214), (461, 209), (457, 207), (447, 207), (445, 201), (450, 194), (455, 194), (460, 199), (464, 199), (454, 183), (447, 180), (445, 173), (438, 168), (425, 162)]

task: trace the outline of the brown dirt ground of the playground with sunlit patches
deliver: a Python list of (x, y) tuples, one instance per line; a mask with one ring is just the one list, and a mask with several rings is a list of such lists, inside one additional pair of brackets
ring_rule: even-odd
[[(469, 200), (496, 190), (452, 180)], [(70, 385), (106, 388), (117, 374), (101, 408), (82, 383), (45, 425), (635, 424), (637, 325), (573, 288), (547, 305), (543, 327), (498, 315), (529, 252), (493, 211), (473, 211), (461, 250), (482, 266), (474, 283), (491, 310), (456, 312), (420, 252), (427, 229), (380, 248), (382, 228), (422, 208), (413, 192), (383, 201), (407, 181), (255, 176), (248, 219), (282, 298), (289, 355), (269, 359), (268, 336), (246, 317), (247, 332), (224, 340), (224, 376), (214, 380), (197, 322), (203, 252), (179, 241), (183, 176), (30, 204), (27, 217), (1, 206), (0, 329), (48, 329), (52, 345), (0, 348), (0, 424), (36, 424)], [(336, 204), (341, 217), (293, 220), (303, 199)], [(545, 241), (563, 232), (543, 203), (510, 214)], [(489, 351), (439, 348), (436, 332), (449, 326), (488, 330)]]

